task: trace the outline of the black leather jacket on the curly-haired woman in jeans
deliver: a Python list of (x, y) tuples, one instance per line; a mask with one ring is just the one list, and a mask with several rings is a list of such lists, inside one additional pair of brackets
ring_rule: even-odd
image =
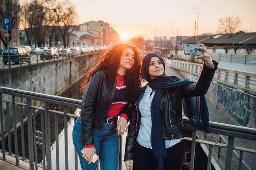
[[(103, 71), (96, 72), (88, 81), (81, 105), (81, 144), (93, 145), (93, 127), (101, 129), (106, 122), (108, 110), (116, 92), (116, 79), (107, 83)], [(125, 112), (125, 106), (122, 113)]]

